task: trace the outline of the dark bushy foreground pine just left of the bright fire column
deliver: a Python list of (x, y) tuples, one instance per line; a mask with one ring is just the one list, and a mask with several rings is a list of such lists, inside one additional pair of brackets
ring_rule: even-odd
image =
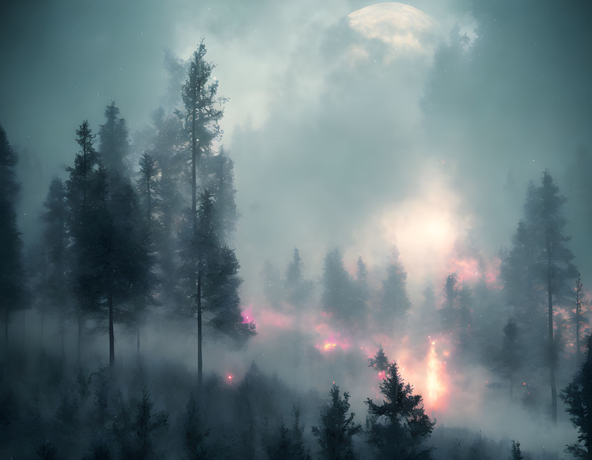
[(381, 406), (369, 398), (365, 401), (370, 414), (369, 443), (384, 458), (428, 459), (432, 448), (423, 443), (436, 422), (424, 412), (422, 396), (404, 384), (396, 361), (388, 367), (380, 392), (385, 396)]

